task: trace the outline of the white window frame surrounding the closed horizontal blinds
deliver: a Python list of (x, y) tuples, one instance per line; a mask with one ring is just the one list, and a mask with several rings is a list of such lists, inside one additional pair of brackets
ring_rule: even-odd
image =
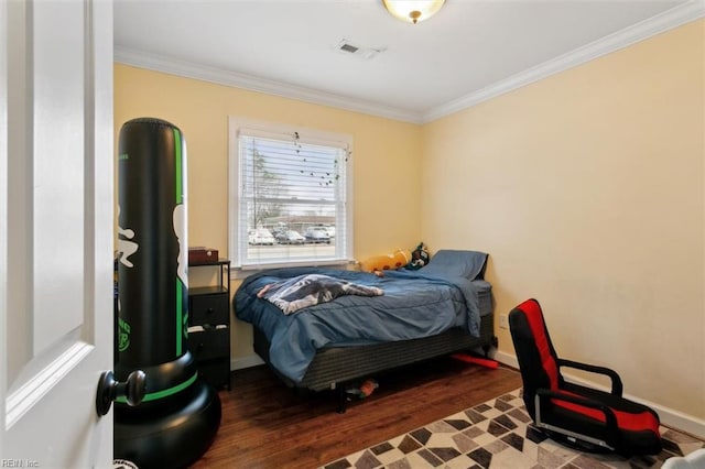
[[(240, 185), (240, 135), (247, 137), (261, 137), (265, 139), (274, 139), (285, 141), (288, 139), (294, 139), (297, 135), (297, 142), (308, 143), (314, 145), (334, 146), (347, 151), (348, 157), (344, 163), (345, 182), (345, 200), (344, 203), (344, 217), (345, 217), (345, 232), (343, 237), (336, 236), (336, 242), (339, 239), (343, 240), (340, 247), (336, 246), (336, 250), (340, 249), (339, 253), (336, 251), (334, 259), (306, 259), (306, 260), (293, 260), (293, 261), (280, 261), (280, 262), (252, 262), (246, 263), (247, 255), (243, 250), (247, 250), (248, 241), (242, 240), (241, 236), (247, 237), (247, 232), (250, 229), (257, 227), (249, 227), (248, 230), (240, 230), (240, 199), (241, 199), (241, 185)], [(327, 131), (321, 131), (315, 129), (302, 128), (292, 124), (270, 122), (263, 120), (254, 120), (243, 117), (229, 116), (228, 117), (228, 252), (230, 253), (230, 260), (232, 262), (232, 277), (241, 277), (252, 273), (252, 271), (259, 271), (263, 269), (275, 269), (282, 266), (317, 266), (317, 265), (344, 265), (354, 262), (352, 254), (352, 233), (354, 233), (354, 219), (352, 219), (352, 167), (350, 155), (352, 154), (352, 137), (343, 133), (334, 133)], [(337, 220), (336, 220), (337, 221)], [(336, 234), (339, 230), (339, 225), (336, 222)], [(245, 234), (242, 234), (245, 232)], [(245, 275), (243, 275), (245, 273)]]

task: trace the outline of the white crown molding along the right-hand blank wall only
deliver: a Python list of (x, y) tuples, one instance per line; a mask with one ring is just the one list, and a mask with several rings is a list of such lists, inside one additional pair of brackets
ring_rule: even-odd
[(488, 99), (496, 98), (522, 86), (546, 78), (551, 75), (593, 61), (657, 34), (681, 26), (705, 17), (705, 0), (692, 0), (674, 7), (663, 13), (641, 21), (614, 34), (560, 55), (543, 64), (531, 67), (509, 78), (497, 81), (463, 98), (438, 106), (424, 113), (422, 123), (432, 122), (445, 116), (470, 108)]

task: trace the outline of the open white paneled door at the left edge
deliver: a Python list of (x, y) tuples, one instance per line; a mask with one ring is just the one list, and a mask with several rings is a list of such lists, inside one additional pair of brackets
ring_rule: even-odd
[(112, 463), (112, 6), (0, 1), (0, 467)]

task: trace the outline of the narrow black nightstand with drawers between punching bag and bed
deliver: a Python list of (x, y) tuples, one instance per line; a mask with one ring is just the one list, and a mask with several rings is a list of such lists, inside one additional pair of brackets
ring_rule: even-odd
[(216, 269), (218, 283), (188, 287), (188, 348), (198, 374), (216, 390), (230, 389), (230, 261), (189, 263), (188, 269)]

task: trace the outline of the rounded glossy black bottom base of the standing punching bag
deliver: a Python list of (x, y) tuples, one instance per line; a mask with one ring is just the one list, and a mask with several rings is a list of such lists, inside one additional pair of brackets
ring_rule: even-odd
[[(116, 408), (115, 459), (126, 459), (140, 469), (185, 468), (198, 460), (213, 444), (220, 426), (220, 397), (203, 380), (196, 380), (189, 399), (152, 413)], [(127, 406), (127, 404), (123, 404)]]

